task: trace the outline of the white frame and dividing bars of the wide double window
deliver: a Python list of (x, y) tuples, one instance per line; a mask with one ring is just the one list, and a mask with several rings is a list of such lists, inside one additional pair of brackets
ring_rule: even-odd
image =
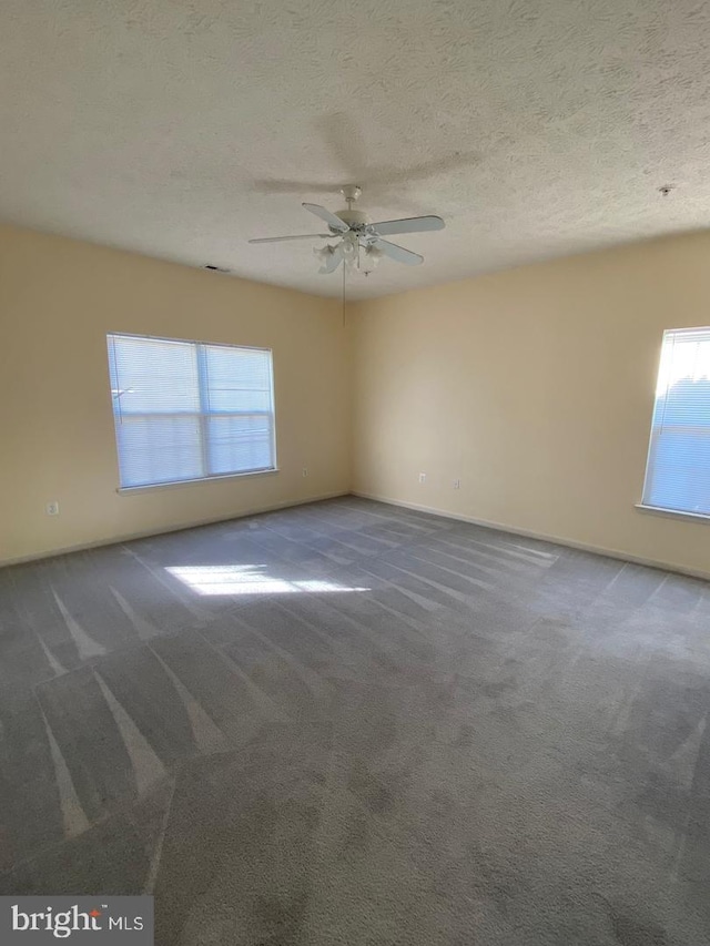
[[(111, 373), (115, 374), (115, 363), (112, 364), (112, 358), (115, 356), (115, 352), (112, 347), (112, 338), (134, 338), (134, 339), (145, 339), (148, 342), (174, 342), (181, 345), (192, 345), (196, 348), (195, 357), (197, 364), (197, 385), (200, 393), (200, 411), (189, 413), (189, 411), (176, 411), (176, 414), (181, 417), (194, 417), (199, 429), (200, 429), (200, 446), (202, 449), (202, 466), (203, 469), (210, 469), (210, 446), (209, 446), (209, 421), (212, 417), (271, 417), (271, 456), (273, 459), (273, 466), (263, 467), (257, 469), (250, 470), (236, 470), (230, 472), (209, 472), (206, 476), (199, 477), (190, 477), (189, 479), (171, 479), (164, 480), (160, 482), (145, 482), (138, 484), (135, 486), (122, 486), (121, 485), (121, 456), (119, 451), (119, 440), (116, 436), (116, 420), (120, 416), (116, 415), (114, 410), (114, 396), (113, 396), (113, 386), (111, 382)], [(131, 492), (143, 492), (144, 490), (150, 489), (174, 489), (176, 487), (182, 486), (194, 486), (201, 482), (214, 482), (217, 480), (225, 479), (235, 479), (241, 477), (250, 477), (250, 476), (270, 476), (272, 474), (280, 472), (278, 468), (278, 455), (276, 451), (276, 397), (275, 397), (275, 383), (274, 383), (274, 349), (268, 347), (262, 347), (258, 345), (233, 345), (229, 342), (204, 342), (196, 338), (175, 338), (173, 336), (165, 335), (145, 335), (143, 333), (134, 333), (134, 332), (106, 332), (106, 344), (109, 348), (109, 358), (108, 358), (108, 367), (109, 367), (109, 395), (111, 398), (111, 418), (113, 421), (113, 444), (115, 448), (115, 459), (116, 459), (116, 469), (119, 472), (119, 486), (116, 487), (118, 494), (131, 494)], [(234, 410), (204, 410), (202, 409), (205, 405), (206, 400), (206, 385), (205, 385), (205, 352), (204, 348), (227, 348), (227, 349), (237, 349), (243, 352), (264, 352), (268, 353), (270, 358), (270, 380), (271, 380), (271, 411), (268, 410), (244, 410), (244, 411), (234, 411)], [(152, 411), (143, 411), (132, 414), (132, 417), (141, 418), (141, 417), (153, 417), (155, 416)], [(168, 411), (161, 411), (161, 416), (169, 416)]]

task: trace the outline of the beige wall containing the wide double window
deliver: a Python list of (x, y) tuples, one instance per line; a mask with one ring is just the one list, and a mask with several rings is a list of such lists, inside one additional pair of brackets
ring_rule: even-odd
[[(273, 348), (281, 471), (119, 495), (108, 332)], [(0, 561), (346, 492), (347, 367), (333, 301), (0, 227)]]

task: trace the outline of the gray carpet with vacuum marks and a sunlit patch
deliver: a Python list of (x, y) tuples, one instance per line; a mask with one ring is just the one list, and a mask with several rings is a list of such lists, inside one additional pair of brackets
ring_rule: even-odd
[(0, 893), (710, 943), (710, 586), (346, 498), (0, 571)]

